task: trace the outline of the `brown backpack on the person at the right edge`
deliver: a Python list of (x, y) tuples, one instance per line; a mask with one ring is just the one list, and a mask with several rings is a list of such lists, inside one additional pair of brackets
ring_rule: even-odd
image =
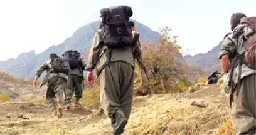
[(256, 69), (256, 17), (243, 17), (241, 24), (253, 29), (253, 33), (245, 39), (245, 63), (248, 68)]

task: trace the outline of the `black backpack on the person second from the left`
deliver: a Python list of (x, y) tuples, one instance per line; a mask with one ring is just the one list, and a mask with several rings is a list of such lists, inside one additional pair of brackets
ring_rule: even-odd
[(70, 69), (75, 69), (80, 66), (79, 57), (81, 54), (78, 51), (68, 50), (62, 54), (64, 61), (69, 63)]

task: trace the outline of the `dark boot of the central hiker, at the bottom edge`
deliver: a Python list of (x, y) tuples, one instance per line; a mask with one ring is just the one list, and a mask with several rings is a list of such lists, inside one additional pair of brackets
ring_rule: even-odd
[(115, 119), (116, 122), (115, 122), (112, 135), (120, 135), (124, 133), (124, 128), (128, 123), (128, 120), (122, 114), (119, 114), (119, 116), (115, 116), (115, 118), (117, 119)]

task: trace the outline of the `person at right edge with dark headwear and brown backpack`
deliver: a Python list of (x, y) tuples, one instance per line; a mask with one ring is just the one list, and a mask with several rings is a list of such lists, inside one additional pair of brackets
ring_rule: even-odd
[(256, 17), (232, 14), (218, 58), (236, 134), (256, 134)]

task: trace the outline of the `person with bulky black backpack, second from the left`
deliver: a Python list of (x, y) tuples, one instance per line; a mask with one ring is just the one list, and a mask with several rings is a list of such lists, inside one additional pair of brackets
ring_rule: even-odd
[(78, 51), (69, 50), (62, 54), (63, 59), (69, 63), (70, 72), (68, 73), (67, 89), (65, 89), (65, 110), (70, 109), (71, 98), (75, 91), (75, 106), (81, 106), (78, 102), (83, 96), (83, 70), (85, 62), (80, 58)]

